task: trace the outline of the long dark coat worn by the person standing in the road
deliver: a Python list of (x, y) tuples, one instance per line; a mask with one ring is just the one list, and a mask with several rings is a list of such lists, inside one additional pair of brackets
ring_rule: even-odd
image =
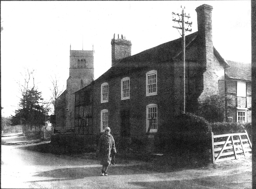
[(116, 154), (115, 140), (112, 135), (105, 135), (105, 133), (101, 135), (96, 154), (101, 159), (101, 165), (111, 164), (111, 155)]

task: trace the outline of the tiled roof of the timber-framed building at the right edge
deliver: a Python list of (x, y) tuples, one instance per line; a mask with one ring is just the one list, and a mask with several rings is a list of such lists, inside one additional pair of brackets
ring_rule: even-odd
[(227, 79), (251, 81), (251, 64), (227, 60), (229, 68), (225, 69)]

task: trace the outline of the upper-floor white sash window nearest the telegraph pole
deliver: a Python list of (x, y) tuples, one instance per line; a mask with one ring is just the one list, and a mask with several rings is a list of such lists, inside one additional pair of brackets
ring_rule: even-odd
[(146, 96), (157, 95), (157, 71), (146, 73)]

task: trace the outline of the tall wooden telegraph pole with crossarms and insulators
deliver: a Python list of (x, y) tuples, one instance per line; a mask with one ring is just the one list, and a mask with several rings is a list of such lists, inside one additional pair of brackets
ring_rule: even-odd
[[(181, 6), (182, 8), (182, 6)], [(184, 7), (185, 8), (185, 7)], [(182, 12), (181, 14), (175, 13), (173, 12), (172, 14), (177, 15), (179, 18), (181, 16), (181, 19), (176, 20), (176, 18), (173, 19), (174, 22), (178, 22), (181, 23), (181, 27), (177, 27), (177, 26), (173, 26), (173, 28), (177, 28), (177, 29), (181, 29), (182, 30), (182, 34), (181, 34), (181, 38), (182, 38), (182, 61), (183, 61), (183, 112), (186, 113), (186, 57), (185, 57), (185, 48), (186, 48), (186, 41), (185, 41), (185, 31), (192, 31), (192, 29), (188, 29), (185, 28), (185, 24), (189, 25), (191, 27), (191, 23), (189, 23), (188, 21), (185, 22), (185, 17), (190, 18), (189, 14), (188, 16), (186, 15), (186, 13), (184, 13), (184, 8), (182, 8)]]

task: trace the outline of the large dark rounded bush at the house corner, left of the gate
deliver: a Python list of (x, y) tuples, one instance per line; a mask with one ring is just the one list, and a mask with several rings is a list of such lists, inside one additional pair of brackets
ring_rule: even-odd
[(191, 113), (175, 116), (159, 127), (158, 148), (179, 155), (195, 155), (208, 161), (211, 148), (211, 127), (202, 117)]

